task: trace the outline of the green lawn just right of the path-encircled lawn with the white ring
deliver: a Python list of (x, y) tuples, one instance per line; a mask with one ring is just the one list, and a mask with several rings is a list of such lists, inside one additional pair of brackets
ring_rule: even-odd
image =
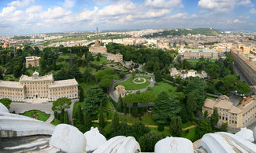
[(155, 95), (155, 97), (158, 97), (158, 94), (160, 94), (161, 92), (165, 92), (168, 93), (169, 96), (173, 95), (176, 91), (176, 86), (171, 85), (168, 82), (158, 82), (158, 85), (154, 85), (152, 87), (153, 93)]

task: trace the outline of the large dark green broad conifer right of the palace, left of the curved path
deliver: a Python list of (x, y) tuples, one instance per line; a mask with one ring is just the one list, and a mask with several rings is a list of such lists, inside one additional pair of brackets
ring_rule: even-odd
[(98, 115), (100, 104), (106, 101), (106, 96), (99, 86), (91, 86), (87, 90), (87, 96), (85, 98), (84, 111), (88, 111), (90, 115)]

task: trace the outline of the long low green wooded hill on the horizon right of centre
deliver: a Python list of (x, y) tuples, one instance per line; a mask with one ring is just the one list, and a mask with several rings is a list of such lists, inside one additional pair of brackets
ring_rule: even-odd
[(221, 32), (217, 31), (213, 28), (196, 28), (196, 29), (173, 29), (169, 31), (162, 31), (153, 33), (152, 35), (145, 35), (146, 38), (154, 38), (154, 37), (166, 37), (167, 35), (207, 35), (207, 36), (214, 36), (220, 35)]

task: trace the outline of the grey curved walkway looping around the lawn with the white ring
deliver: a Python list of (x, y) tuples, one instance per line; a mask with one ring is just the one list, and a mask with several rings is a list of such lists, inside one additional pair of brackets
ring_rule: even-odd
[[(150, 77), (153, 77), (153, 82), (150, 82), (150, 85), (147, 86), (147, 88), (154, 86), (154, 83), (155, 83), (154, 75), (135, 75), (135, 76), (150, 76)], [(113, 80), (111, 82), (111, 85), (109, 87), (109, 96), (114, 101), (116, 101), (116, 102), (118, 101), (118, 98), (117, 98), (116, 94), (114, 93), (115, 84), (118, 83), (118, 82), (124, 82), (125, 80), (127, 80), (128, 78), (131, 78), (131, 77), (132, 77), (132, 75), (125, 75), (124, 78), (122, 78), (121, 80)], [(144, 91), (147, 91), (147, 88), (134, 90), (134, 91), (132, 91), (132, 93), (136, 93), (137, 91), (139, 91), (140, 93), (143, 93)]]

